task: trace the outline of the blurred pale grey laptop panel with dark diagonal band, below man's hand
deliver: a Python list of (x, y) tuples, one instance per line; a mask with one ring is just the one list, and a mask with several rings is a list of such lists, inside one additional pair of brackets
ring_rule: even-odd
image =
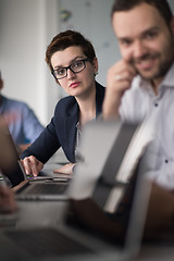
[[(110, 185), (114, 183), (127, 184), (147, 145), (153, 140), (153, 129), (148, 119), (141, 124), (127, 124), (120, 121), (88, 123), (78, 148), (80, 161), (75, 173), (76, 181), (69, 188), (69, 197), (75, 199), (92, 197), (98, 203), (100, 200), (100, 207), (111, 211), (112, 200), (109, 199), (110, 206), (108, 206), (104, 199), (108, 195), (100, 195), (101, 182), (99, 181), (103, 181), (104, 187), (108, 184), (109, 191)], [(96, 187), (97, 184), (100, 186)], [(113, 198), (115, 199), (114, 195)], [(114, 203), (116, 203), (115, 200)]]

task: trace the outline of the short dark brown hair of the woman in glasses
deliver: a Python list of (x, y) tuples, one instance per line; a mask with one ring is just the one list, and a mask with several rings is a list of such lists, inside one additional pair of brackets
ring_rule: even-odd
[(53, 37), (53, 39), (51, 40), (50, 45), (47, 48), (46, 62), (49, 65), (51, 71), (52, 71), (52, 65), (51, 65), (52, 54), (57, 51), (63, 51), (67, 47), (72, 47), (72, 46), (82, 47), (84, 54), (90, 61), (92, 61), (94, 58), (96, 57), (95, 49), (88, 39), (86, 39), (78, 32), (65, 30), (65, 32), (58, 34), (55, 37)]

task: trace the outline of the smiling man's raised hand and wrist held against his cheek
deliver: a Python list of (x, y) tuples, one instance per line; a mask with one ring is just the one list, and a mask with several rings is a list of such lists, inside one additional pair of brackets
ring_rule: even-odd
[(132, 80), (136, 75), (133, 65), (124, 60), (115, 63), (108, 71), (107, 89), (103, 101), (103, 119), (114, 120), (119, 116), (119, 107), (124, 92), (130, 88)]

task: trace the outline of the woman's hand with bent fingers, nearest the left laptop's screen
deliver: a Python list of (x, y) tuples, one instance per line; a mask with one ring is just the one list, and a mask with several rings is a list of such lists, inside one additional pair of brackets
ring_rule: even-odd
[(26, 175), (37, 176), (44, 167), (44, 164), (34, 156), (26, 157), (24, 160), (22, 160), (22, 163)]

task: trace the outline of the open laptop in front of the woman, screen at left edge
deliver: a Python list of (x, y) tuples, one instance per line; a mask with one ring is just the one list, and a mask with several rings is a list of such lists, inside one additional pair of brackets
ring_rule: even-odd
[[(12, 136), (5, 121), (0, 117), (0, 170), (8, 178), (10, 186), (23, 185), (16, 190), (16, 199), (21, 200), (66, 200), (65, 191), (71, 177), (64, 174), (53, 174), (44, 169), (37, 177), (27, 176), (20, 160)], [(58, 165), (57, 165), (58, 167)]]

